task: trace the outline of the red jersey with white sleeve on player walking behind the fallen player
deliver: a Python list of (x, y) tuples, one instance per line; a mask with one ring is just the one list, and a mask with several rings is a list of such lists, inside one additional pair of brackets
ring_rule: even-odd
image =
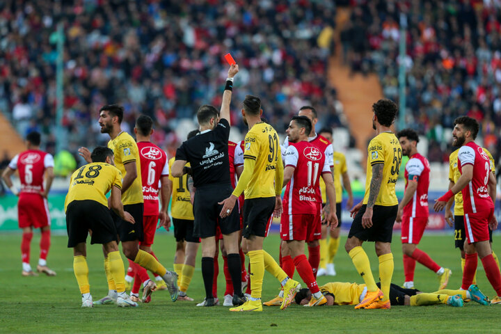
[(411, 180), (417, 180), (417, 189), (411, 202), (404, 207), (403, 216), (408, 217), (427, 217), (428, 210), (428, 188), (429, 188), (429, 162), (421, 154), (414, 154), (407, 161), (404, 173), (407, 189), (409, 177)]

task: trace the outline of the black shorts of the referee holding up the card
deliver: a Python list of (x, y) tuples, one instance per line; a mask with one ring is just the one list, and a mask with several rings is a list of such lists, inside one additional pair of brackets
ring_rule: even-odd
[(218, 202), (230, 197), (232, 192), (233, 188), (230, 184), (211, 184), (199, 186), (196, 189), (195, 200), (193, 200), (193, 216), (195, 216), (193, 237), (215, 237), (218, 224), (222, 234), (240, 230), (238, 202), (235, 202), (230, 216), (225, 218), (219, 216), (223, 205), (219, 205)]

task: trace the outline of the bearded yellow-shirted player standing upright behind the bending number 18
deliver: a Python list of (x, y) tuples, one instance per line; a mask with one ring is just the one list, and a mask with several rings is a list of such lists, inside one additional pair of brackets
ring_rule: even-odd
[[(119, 241), (122, 241), (122, 252), (135, 264), (142, 267), (136, 267), (138, 275), (148, 276), (144, 269), (152, 271), (161, 276), (167, 284), (170, 292), (170, 299), (177, 300), (177, 274), (167, 271), (150, 253), (139, 249), (139, 241), (143, 241), (143, 184), (141, 182), (141, 161), (139, 158), (138, 146), (134, 138), (127, 132), (123, 132), (121, 123), (123, 119), (123, 107), (117, 104), (107, 104), (100, 109), (99, 124), (102, 134), (109, 134), (110, 141), (108, 148), (113, 150), (114, 162), (116, 168), (122, 173), (122, 203), (125, 211), (132, 214), (136, 223), (130, 224), (112, 212), (113, 220), (116, 223)], [(79, 154), (90, 164), (90, 151), (87, 148), (79, 148)], [(117, 293), (116, 285), (109, 270), (109, 257), (106, 248), (104, 252), (104, 271), (108, 280), (108, 295), (100, 301), (94, 302), (96, 305), (116, 303)], [(142, 273), (141, 273), (142, 272)], [(143, 279), (142, 279), (143, 280)], [(145, 289), (152, 291), (154, 283), (147, 281)], [(150, 284), (152, 283), (152, 284)], [(149, 294), (150, 292), (146, 292)]]

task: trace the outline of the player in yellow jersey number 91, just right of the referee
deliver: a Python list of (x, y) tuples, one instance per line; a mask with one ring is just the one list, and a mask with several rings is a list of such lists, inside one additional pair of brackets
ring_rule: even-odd
[(261, 292), (264, 268), (275, 276), (284, 288), (284, 299), (280, 308), (287, 308), (292, 302), (299, 285), (289, 279), (273, 257), (263, 250), (263, 240), (273, 211), (282, 210), (283, 162), (278, 134), (271, 125), (262, 122), (261, 100), (247, 95), (242, 109), (244, 123), (249, 131), (245, 138), (244, 171), (232, 196), (221, 202), (221, 216), (228, 215), (237, 198), (245, 190), (244, 241), (242, 249), (247, 251), (250, 262), (250, 299), (244, 305), (231, 311), (262, 311)]

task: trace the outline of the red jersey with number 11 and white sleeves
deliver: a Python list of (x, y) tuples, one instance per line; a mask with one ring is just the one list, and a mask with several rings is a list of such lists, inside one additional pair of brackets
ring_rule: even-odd
[(321, 196), (317, 196), (323, 173), (331, 173), (331, 166), (317, 146), (300, 141), (289, 143), (285, 152), (285, 167), (293, 166), (294, 174), (285, 188), (283, 200), (287, 214), (319, 214)]

